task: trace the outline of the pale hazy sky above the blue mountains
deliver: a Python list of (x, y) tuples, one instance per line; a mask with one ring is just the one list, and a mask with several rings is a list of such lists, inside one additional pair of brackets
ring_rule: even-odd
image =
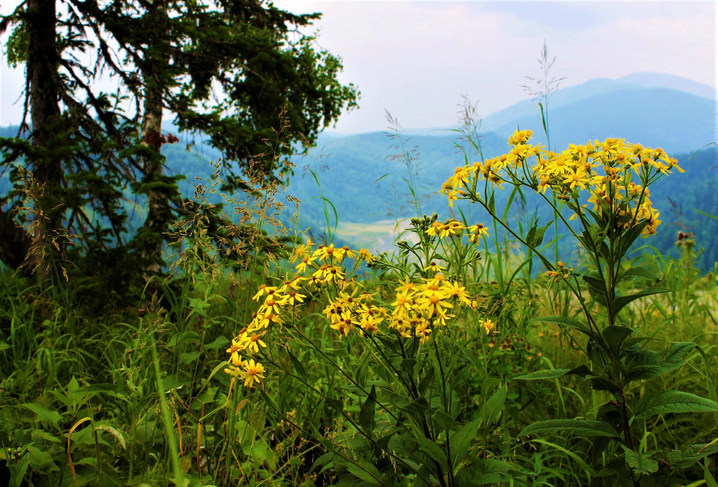
[[(0, 13), (17, 1), (0, 0)], [(304, 32), (344, 60), (341, 80), (362, 92), (336, 131), (386, 127), (388, 109), (406, 127), (449, 126), (460, 93), (483, 114), (526, 98), (544, 39), (564, 85), (640, 71), (716, 85), (712, 1), (309, 1), (275, 0), (297, 13), (323, 12)], [(6, 34), (2, 37), (6, 40)], [(22, 113), (22, 70), (0, 67), (0, 125)]]

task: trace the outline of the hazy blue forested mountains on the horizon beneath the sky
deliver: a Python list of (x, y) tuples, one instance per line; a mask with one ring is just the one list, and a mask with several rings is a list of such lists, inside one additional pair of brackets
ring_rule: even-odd
[[(711, 93), (714, 94), (713, 88), (685, 78), (636, 73), (617, 80), (601, 78), (563, 88), (554, 93), (549, 105), (552, 149), (561, 150), (572, 142), (584, 144), (589, 139), (614, 136), (663, 147), (679, 157), (686, 174), (672, 175), (666, 182), (661, 181), (653, 195), (665, 221), (659, 228), (660, 245), (656, 246), (661, 251), (671, 249), (673, 232), (677, 229), (696, 231), (696, 236), (700, 231), (699, 245), (706, 246), (705, 256), (710, 265), (718, 260), (718, 222), (701, 217), (693, 209), (718, 214), (718, 150), (714, 147), (696, 157), (689, 156), (716, 141), (716, 98), (703, 96)], [(534, 141), (546, 144), (535, 101), (518, 102), (487, 116), (483, 122), (484, 157), (505, 152), (506, 139), (517, 127), (532, 129)], [(169, 124), (164, 128), (173, 131)], [(0, 134), (12, 136), (16, 130), (0, 128)], [(196, 184), (195, 176), (208, 177), (210, 159), (217, 159), (221, 154), (208, 147), (202, 136), (182, 135), (180, 139), (181, 144), (167, 144), (162, 152), (170, 172), (186, 175), (180, 189), (189, 196)], [(464, 163), (464, 155), (454, 144), (456, 132), (407, 129), (404, 139), (406, 149), (416, 147), (421, 165), (419, 184), (424, 186), (421, 193), (435, 194), (454, 167)], [(196, 142), (195, 147), (185, 150), (185, 144), (192, 140)], [(401, 160), (388, 157), (396, 153), (390, 149), (394, 143), (382, 132), (348, 136), (322, 134), (317, 147), (309, 149), (306, 155), (292, 157), (297, 169), (286, 189), (302, 201), (302, 226), (325, 226), (320, 189), (312, 177), (302, 177), (303, 167), (307, 165), (320, 170), (323, 196), (335, 205), (342, 223), (355, 223), (359, 228), (386, 221), (388, 213), (395, 218), (411, 215), (406, 197), (401, 194), (406, 193), (403, 180), (406, 167)], [(470, 155), (470, 160), (477, 159), (477, 154)], [(2, 187), (9, 189), (7, 176), (0, 180)], [(497, 205), (499, 198), (505, 195), (497, 195)], [(442, 218), (451, 214), (446, 201), (436, 196), (426, 199), (421, 210), (426, 213), (436, 210)], [(480, 218), (472, 216), (477, 217)]]

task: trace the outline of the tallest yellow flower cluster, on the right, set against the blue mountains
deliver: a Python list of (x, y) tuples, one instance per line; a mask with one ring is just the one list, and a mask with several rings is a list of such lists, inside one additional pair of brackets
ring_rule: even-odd
[[(508, 139), (508, 153), (457, 167), (440, 191), (447, 196), (449, 205), (467, 198), (467, 190), (475, 190), (478, 180), (498, 187), (510, 180), (538, 193), (546, 193), (550, 188), (559, 200), (574, 200), (577, 215), (582, 215), (585, 205), (579, 206), (579, 192), (587, 190), (588, 202), (593, 203), (595, 213), (604, 216), (607, 211), (614, 213), (623, 228), (647, 221), (643, 237), (656, 233), (661, 221), (648, 199), (646, 186), (674, 167), (684, 172), (676, 159), (668, 157), (661, 148), (628, 144), (625, 139), (570, 144), (568, 149), (556, 153), (545, 150), (541, 144), (528, 144), (532, 135), (530, 130), (516, 131)], [(528, 167), (531, 158), (536, 162)], [(632, 172), (642, 184), (631, 181)]]

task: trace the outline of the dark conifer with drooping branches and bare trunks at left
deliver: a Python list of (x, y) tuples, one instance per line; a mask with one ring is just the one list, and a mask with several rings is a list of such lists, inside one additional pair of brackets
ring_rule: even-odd
[[(26, 66), (30, 107), (25, 136), (0, 139), (1, 164), (17, 181), (22, 161), (45, 184), (50, 228), (80, 235), (86, 251), (123, 247), (158, 272), (164, 233), (182, 209), (179, 177), (167, 175), (160, 152), (177, 142), (165, 122), (206, 136), (233, 163), (231, 183), (265, 151), (282, 108), (292, 142), (306, 147), (356, 105), (353, 85), (337, 80), (340, 59), (302, 32), (318, 18), (261, 0), (27, 0), (0, 25), (13, 29), (8, 61)], [(101, 76), (117, 91), (99, 88)], [(128, 193), (147, 201), (131, 239)], [(17, 268), (32, 236), (17, 228), (18, 193), (3, 203), (1, 258)]]

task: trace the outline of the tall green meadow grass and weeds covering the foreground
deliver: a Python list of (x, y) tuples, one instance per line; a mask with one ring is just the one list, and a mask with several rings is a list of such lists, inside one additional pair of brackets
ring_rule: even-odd
[[(279, 131), (274, 147), (281, 143)], [(276, 153), (269, 157), (283, 167)], [(307, 245), (296, 215), (279, 218), (284, 204), (294, 203), (284, 195), (281, 170), (279, 180), (251, 174), (246, 198), (226, 205), (233, 213), (208, 201), (218, 175), (200, 182), (189, 216), (176, 226), (173, 273), (136, 302), (98, 313), (77, 304), (71, 276), (37, 282), (6, 272), (0, 279), (1, 485), (716, 485), (718, 413), (711, 404), (707, 412), (633, 417), (635, 404), (663, 389), (715, 404), (718, 292), (715, 276), (696, 268), (689, 236), (681, 238), (679, 257), (646, 246), (620, 267), (642, 266), (662, 287), (677, 289), (633, 301), (620, 325), (648, 351), (697, 345), (671, 374), (623, 388), (633, 465), (625, 445), (600, 435), (521, 434), (546, 419), (597, 422), (616, 403), (590, 375), (551, 375), (597, 368), (587, 361), (585, 337), (532, 321), (577, 317), (583, 305), (537, 276), (536, 268), (546, 269), (536, 253), (517, 246), (531, 231), (535, 236), (535, 225), (518, 226), (518, 240), (496, 222), (487, 226), (490, 236), (475, 228), (471, 241), (429, 238), (427, 230), (442, 222), (417, 215), (404, 223), (414, 238), (396, 241), (391, 253), (334, 249), (327, 237)], [(412, 203), (419, 208), (417, 198)], [(234, 222), (222, 233), (210, 225), (220, 214)], [(346, 227), (330, 231), (328, 219), (325, 236), (336, 228)], [(551, 236), (554, 228), (544, 232)], [(555, 238), (544, 247), (559, 251)], [(302, 261), (314, 265), (299, 272), (307, 279), (295, 292), (304, 302), (284, 300), (273, 322), (266, 289), (284, 287), (289, 296)], [(583, 256), (572, 265), (579, 276), (591, 264)], [(332, 268), (340, 272), (333, 281)], [(617, 291), (628, 295), (647, 280), (621, 282)], [(392, 311), (404, 292), (396, 288), (409, 282), (421, 292), (452, 282), (465, 290), (428, 318), (421, 317), (425, 307), (416, 308), (423, 321), (409, 326)], [(421, 295), (432, 306), (431, 294)], [(346, 321), (330, 319), (327, 307), (337, 300), (352, 310)], [(456, 316), (442, 326), (440, 312)], [(383, 320), (375, 327), (372, 317)], [(266, 324), (255, 323), (263, 318)], [(246, 330), (253, 323), (256, 339)], [(233, 361), (227, 351), (243, 337), (236, 348), (242, 358)], [(547, 379), (521, 378), (540, 371)], [(659, 450), (677, 451), (675, 464), (686, 467), (666, 480)], [(612, 470), (615, 458), (628, 462), (629, 483)]]

